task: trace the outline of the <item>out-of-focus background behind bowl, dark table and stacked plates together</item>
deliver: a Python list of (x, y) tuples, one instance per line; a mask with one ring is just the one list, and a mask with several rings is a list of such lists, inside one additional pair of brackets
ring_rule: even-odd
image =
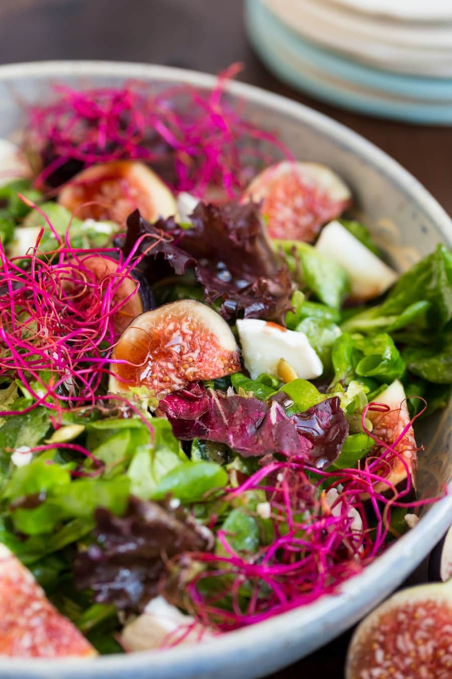
[(239, 79), (360, 132), (452, 213), (450, 0), (1, 0), (0, 26), (1, 63), (113, 59), (216, 73), (243, 62)]

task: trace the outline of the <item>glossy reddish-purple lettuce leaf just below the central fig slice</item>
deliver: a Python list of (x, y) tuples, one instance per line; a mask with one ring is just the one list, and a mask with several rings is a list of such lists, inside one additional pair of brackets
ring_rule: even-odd
[(168, 394), (159, 410), (178, 439), (226, 443), (244, 457), (279, 453), (300, 456), (320, 468), (340, 454), (348, 422), (337, 397), (287, 416), (277, 401), (206, 390), (201, 384)]

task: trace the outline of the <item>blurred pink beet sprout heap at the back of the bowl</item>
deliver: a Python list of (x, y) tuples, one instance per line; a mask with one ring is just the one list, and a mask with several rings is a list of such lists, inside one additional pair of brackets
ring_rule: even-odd
[(228, 97), (228, 81), (240, 70), (237, 64), (226, 69), (211, 91), (188, 85), (157, 90), (138, 81), (121, 88), (54, 88), (54, 103), (28, 110), (26, 151), (43, 159), (36, 185), (68, 161), (85, 168), (131, 159), (169, 168), (175, 191), (200, 198), (209, 191), (218, 196), (218, 190), (225, 198), (241, 194), (260, 169), (293, 156), (274, 134), (246, 120), (242, 100)]

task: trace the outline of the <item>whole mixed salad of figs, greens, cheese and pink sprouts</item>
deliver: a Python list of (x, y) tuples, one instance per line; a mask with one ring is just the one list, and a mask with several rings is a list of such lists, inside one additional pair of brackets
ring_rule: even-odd
[(56, 88), (0, 145), (0, 655), (209, 644), (438, 499), (451, 251), (396, 272), (224, 81)]

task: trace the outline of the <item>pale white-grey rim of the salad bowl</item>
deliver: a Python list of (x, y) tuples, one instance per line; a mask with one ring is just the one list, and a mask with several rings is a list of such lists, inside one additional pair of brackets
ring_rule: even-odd
[[(24, 62), (0, 66), (0, 82), (4, 83), (14, 84), (16, 79), (22, 77), (41, 79), (68, 75), (77, 75), (77, 77), (119, 75), (125, 79), (189, 81), (190, 84), (199, 88), (211, 88), (216, 80), (214, 75), (200, 71), (136, 62), (64, 60)], [(232, 82), (228, 84), (227, 90), (231, 94), (246, 98), (251, 103), (270, 107), (290, 115), (295, 120), (310, 124), (327, 136), (338, 136), (354, 155), (371, 162), (379, 172), (395, 181), (405, 195), (412, 196), (415, 194), (417, 204), (422, 204), (424, 211), (438, 225), (445, 240), (452, 243), (452, 221), (445, 210), (405, 168), (360, 134), (335, 122), (323, 113), (255, 86)], [(448, 413), (445, 412), (443, 418), (447, 417)], [(108, 670), (123, 669), (127, 672), (133, 672), (133, 670), (138, 671), (148, 667), (153, 673), (161, 669), (165, 676), (170, 677), (175, 676), (175, 674), (167, 674), (171, 668), (173, 672), (179, 670), (181, 674), (184, 674), (184, 667), (188, 668), (190, 661), (196, 663), (199, 655), (202, 655), (202, 663), (197, 663), (199, 674), (201, 674), (204, 666), (213, 667), (213, 663), (215, 663), (215, 660), (218, 661), (220, 656), (231, 654), (231, 656), (240, 657), (241, 653), (246, 654), (246, 650), (253, 643), (257, 643), (260, 648), (271, 647), (275, 638), (281, 640), (285, 637), (289, 648), (293, 647), (293, 644), (299, 643), (302, 635), (312, 637), (312, 629), (314, 629), (315, 635), (319, 636), (319, 632), (323, 631), (321, 621), (329, 615), (331, 620), (337, 617), (337, 629), (333, 633), (327, 632), (322, 644), (327, 643), (362, 617), (364, 609), (370, 610), (388, 594), (389, 589), (384, 584), (385, 576), (387, 578), (388, 573), (393, 576), (392, 590), (405, 579), (443, 536), (450, 524), (450, 519), (447, 517), (448, 515), (452, 516), (452, 481), (447, 490), (446, 496), (431, 507), (428, 514), (419, 521), (415, 528), (412, 528), (397, 540), (388, 551), (378, 557), (373, 564), (367, 566), (363, 572), (346, 581), (339, 593), (324, 596), (309, 606), (295, 608), (262, 623), (228, 632), (228, 634), (215, 638), (212, 643), (179, 646), (168, 650), (141, 651), (127, 655), (107, 655), (90, 660), (77, 657), (62, 659), (3, 659), (0, 657), (0, 671), (7, 672), (8, 677), (20, 679), (23, 672), (26, 672), (26, 676), (29, 677), (33, 677), (34, 674), (42, 677), (43, 670), (45, 670), (45, 676), (48, 679), (57, 679), (63, 677), (65, 671), (67, 671), (68, 677), (83, 678), (83, 676), (93, 676), (94, 673), (96, 676), (108, 676), (108, 674), (104, 675), (104, 673), (108, 673)], [(420, 557), (416, 549), (419, 545), (422, 545)], [(403, 566), (401, 569), (400, 562)], [(359, 592), (358, 597), (354, 596), (354, 591)], [(348, 610), (345, 618), (341, 614), (341, 609), (344, 606)], [(312, 642), (312, 648), (319, 645)], [(201, 652), (200, 649), (202, 649)], [(253, 676), (257, 676), (257, 674), (253, 674)], [(190, 676), (192, 675), (190, 674)]]

